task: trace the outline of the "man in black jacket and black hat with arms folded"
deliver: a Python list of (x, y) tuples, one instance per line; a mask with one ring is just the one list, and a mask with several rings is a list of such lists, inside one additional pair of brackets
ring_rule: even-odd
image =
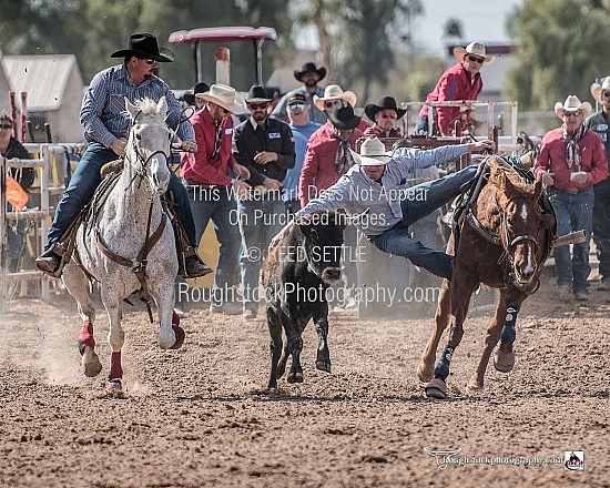
[(235, 159), (250, 170), (247, 183), (254, 187), (252, 200), (240, 200), (237, 203), (242, 234), (243, 314), (246, 321), (257, 314), (263, 255), (286, 220), (282, 182), (295, 162), (291, 128), (268, 118), (270, 102), (263, 87), (252, 87), (246, 98), (251, 116), (235, 129)]

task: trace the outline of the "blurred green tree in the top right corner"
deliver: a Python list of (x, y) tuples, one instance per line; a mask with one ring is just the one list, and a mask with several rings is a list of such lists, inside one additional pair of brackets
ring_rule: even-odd
[(551, 110), (568, 94), (590, 99), (596, 78), (610, 73), (609, 0), (527, 0), (508, 22), (519, 60), (507, 93), (525, 110)]

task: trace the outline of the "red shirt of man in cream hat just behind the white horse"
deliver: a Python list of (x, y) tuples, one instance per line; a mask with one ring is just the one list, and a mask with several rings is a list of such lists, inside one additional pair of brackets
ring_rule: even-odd
[(212, 157), (216, 141), (216, 125), (207, 109), (196, 112), (191, 119), (195, 130), (197, 151), (194, 154), (182, 153), (180, 175), (197, 183), (223, 185), (231, 184), (228, 167), (233, 167), (235, 159), (231, 152), (233, 142), (233, 119), (223, 120), (223, 140), (221, 150)]

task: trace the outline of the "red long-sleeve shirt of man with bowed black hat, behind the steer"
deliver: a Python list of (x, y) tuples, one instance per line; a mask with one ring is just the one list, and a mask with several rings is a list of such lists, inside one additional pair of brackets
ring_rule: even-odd
[[(364, 136), (364, 133), (355, 129), (349, 138), (352, 150), (355, 148), (356, 140), (362, 136)], [(335, 169), (338, 146), (339, 138), (334, 134), (333, 126), (328, 122), (309, 138), (298, 180), (298, 194), (302, 206), (314, 199), (316, 193), (319, 194), (321, 191), (333, 186), (339, 179), (339, 174)]]

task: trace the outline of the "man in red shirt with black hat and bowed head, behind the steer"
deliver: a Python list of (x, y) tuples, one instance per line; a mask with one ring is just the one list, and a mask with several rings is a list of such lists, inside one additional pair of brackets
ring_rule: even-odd
[(356, 140), (364, 136), (356, 129), (359, 123), (360, 118), (354, 113), (353, 106), (342, 100), (328, 114), (328, 122), (314, 132), (298, 182), (302, 206), (334, 185), (354, 165), (349, 149), (355, 149)]

